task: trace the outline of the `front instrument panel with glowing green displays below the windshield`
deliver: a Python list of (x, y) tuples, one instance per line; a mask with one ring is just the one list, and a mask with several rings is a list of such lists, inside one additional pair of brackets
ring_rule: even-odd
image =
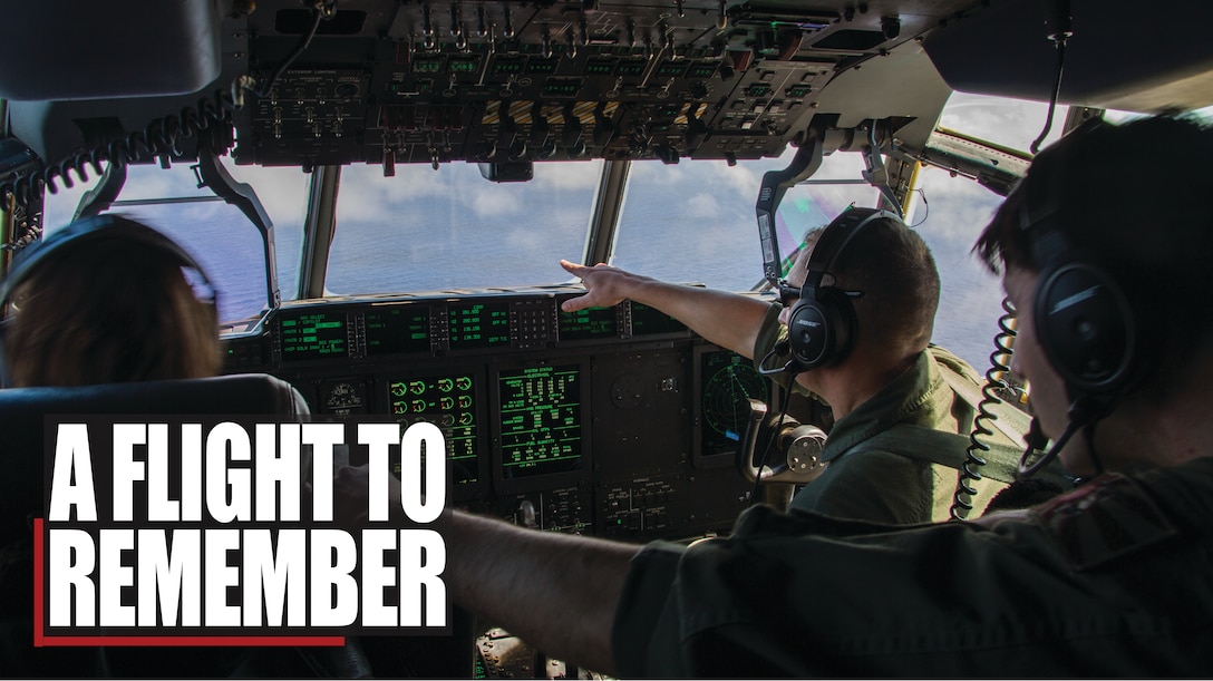
[(287, 303), (226, 338), (226, 371), (275, 374), (314, 414), (438, 425), (457, 508), (636, 540), (727, 531), (767, 379), (653, 308), (562, 311), (571, 296)]

